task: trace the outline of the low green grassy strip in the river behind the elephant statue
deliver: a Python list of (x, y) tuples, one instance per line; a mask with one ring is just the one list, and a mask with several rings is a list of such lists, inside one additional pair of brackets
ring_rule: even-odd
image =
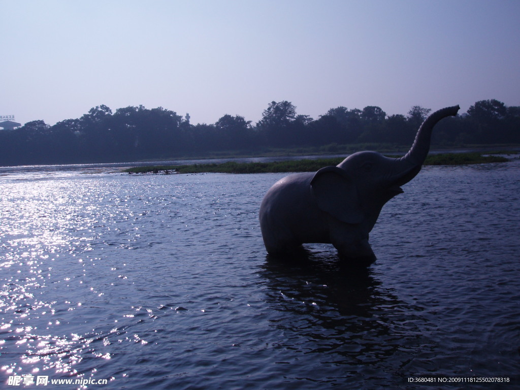
[[(395, 156), (393, 156), (395, 157)], [(317, 160), (289, 160), (275, 162), (238, 163), (228, 161), (222, 164), (154, 165), (128, 168), (127, 173), (281, 173), (313, 172), (324, 166), (337, 165), (343, 158)], [(428, 155), (424, 165), (464, 165), (509, 161), (505, 157), (471, 153), (441, 153)]]

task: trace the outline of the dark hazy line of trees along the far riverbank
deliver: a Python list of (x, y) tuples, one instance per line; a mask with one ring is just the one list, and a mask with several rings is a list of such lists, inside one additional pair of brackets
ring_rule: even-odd
[[(297, 114), (289, 101), (272, 101), (256, 124), (243, 116), (222, 116), (214, 124), (190, 124), (162, 107), (97, 106), (78, 119), (47, 125), (32, 121), (0, 131), (0, 165), (129, 162), (203, 156), (215, 152), (251, 153), (273, 148), (327, 147), (375, 143), (411, 145), (431, 112), (414, 106), (406, 115), (380, 107), (331, 108), (318, 119)], [(439, 122), (432, 147), (520, 144), (520, 107), (480, 100), (467, 113)]]

